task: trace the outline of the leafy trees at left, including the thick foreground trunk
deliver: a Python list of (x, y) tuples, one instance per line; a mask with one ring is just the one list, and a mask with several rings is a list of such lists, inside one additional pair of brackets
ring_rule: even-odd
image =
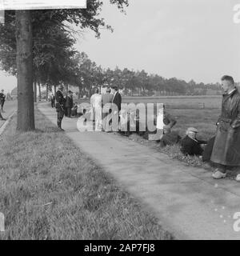
[[(128, 0), (110, 3), (121, 11), (128, 6)], [(0, 25), (0, 60), (2, 70), (18, 78), (18, 130), (35, 129), (37, 84), (40, 88), (41, 84), (48, 87), (78, 82), (73, 64), (79, 31), (72, 27), (94, 30), (97, 38), (102, 27), (112, 30), (99, 16), (102, 5), (102, 1), (88, 0), (86, 9), (6, 11), (5, 25)]]

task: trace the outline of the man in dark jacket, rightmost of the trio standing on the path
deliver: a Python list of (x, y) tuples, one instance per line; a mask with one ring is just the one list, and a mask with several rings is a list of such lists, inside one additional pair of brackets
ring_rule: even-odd
[(118, 93), (118, 87), (117, 86), (111, 86), (112, 94), (114, 94), (113, 97), (113, 105), (112, 105), (112, 129), (114, 131), (119, 130), (119, 120), (120, 120), (120, 111), (121, 111), (121, 104), (122, 104), (122, 96)]

